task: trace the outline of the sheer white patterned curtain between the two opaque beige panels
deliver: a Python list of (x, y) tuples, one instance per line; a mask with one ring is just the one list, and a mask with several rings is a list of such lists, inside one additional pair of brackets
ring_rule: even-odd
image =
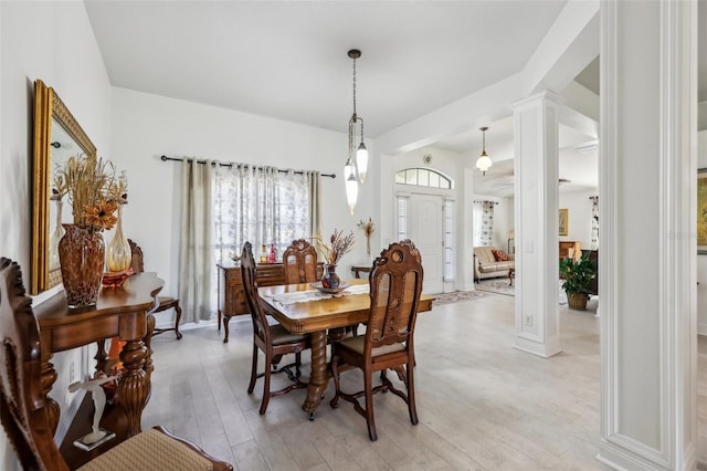
[(263, 244), (267, 251), (274, 244), (279, 260), (293, 240), (310, 238), (309, 214), (319, 212), (318, 191), (312, 197), (310, 186), (318, 190), (319, 175), (307, 174), (219, 166), (213, 192), (215, 261), (240, 255), (246, 241), (253, 244), (256, 258)]

